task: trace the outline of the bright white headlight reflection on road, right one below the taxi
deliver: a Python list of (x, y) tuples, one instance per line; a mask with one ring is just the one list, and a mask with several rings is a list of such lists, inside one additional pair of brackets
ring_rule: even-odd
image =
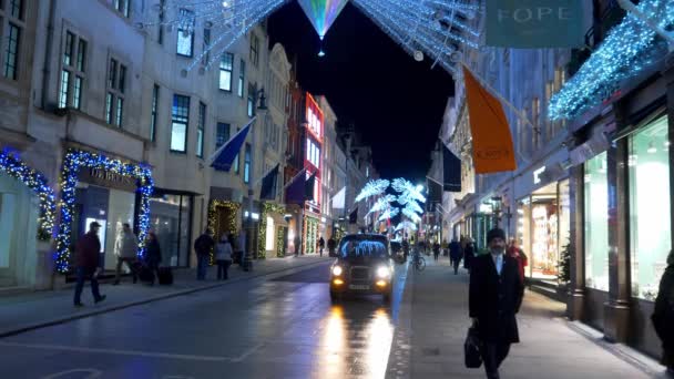
[(366, 329), (367, 334), (367, 361), (368, 371), (371, 378), (384, 378), (388, 366), (388, 355), (390, 354), (394, 340), (394, 326), (391, 325), (388, 313), (379, 308), (375, 311)]

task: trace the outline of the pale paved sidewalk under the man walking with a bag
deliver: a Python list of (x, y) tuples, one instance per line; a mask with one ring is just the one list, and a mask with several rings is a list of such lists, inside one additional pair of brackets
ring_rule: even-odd
[[(455, 276), (447, 258), (426, 257), (426, 270), (410, 267), (387, 378), (484, 378), (463, 365), (468, 274)], [(527, 291), (518, 315), (521, 344), (501, 367), (502, 378), (652, 378), (569, 327), (564, 305)], [(661, 369), (664, 371), (664, 368)]]

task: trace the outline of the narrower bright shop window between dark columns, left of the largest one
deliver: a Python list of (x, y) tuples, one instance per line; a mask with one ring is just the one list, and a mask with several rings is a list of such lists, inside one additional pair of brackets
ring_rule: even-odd
[(609, 182), (606, 153), (585, 162), (585, 286), (609, 290)]

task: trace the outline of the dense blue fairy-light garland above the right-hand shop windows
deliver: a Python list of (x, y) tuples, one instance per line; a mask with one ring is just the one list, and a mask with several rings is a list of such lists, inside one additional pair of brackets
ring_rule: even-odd
[[(674, 25), (674, 2), (642, 0), (636, 7), (663, 29)], [(611, 98), (621, 83), (664, 58), (667, 44), (636, 17), (627, 13), (560, 92), (550, 100), (551, 120), (574, 119)]]

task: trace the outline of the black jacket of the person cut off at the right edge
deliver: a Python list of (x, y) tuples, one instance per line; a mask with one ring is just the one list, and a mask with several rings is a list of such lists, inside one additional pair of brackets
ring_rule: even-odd
[(655, 299), (653, 326), (665, 350), (674, 350), (674, 266), (670, 265), (660, 279), (660, 290)]

